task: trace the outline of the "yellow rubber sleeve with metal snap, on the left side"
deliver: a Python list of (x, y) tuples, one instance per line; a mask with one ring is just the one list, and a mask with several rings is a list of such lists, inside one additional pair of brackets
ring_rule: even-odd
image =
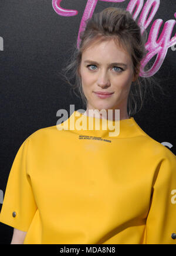
[(27, 174), (27, 154), (29, 138), (19, 148), (9, 173), (1, 208), (0, 222), (21, 231), (28, 231), (36, 212), (31, 178)]

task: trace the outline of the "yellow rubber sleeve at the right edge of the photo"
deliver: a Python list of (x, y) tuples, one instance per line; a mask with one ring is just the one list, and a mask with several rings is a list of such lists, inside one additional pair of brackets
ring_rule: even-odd
[[(146, 222), (146, 244), (176, 244), (176, 157), (165, 148), (156, 169)], [(175, 235), (174, 235), (175, 234)]]

